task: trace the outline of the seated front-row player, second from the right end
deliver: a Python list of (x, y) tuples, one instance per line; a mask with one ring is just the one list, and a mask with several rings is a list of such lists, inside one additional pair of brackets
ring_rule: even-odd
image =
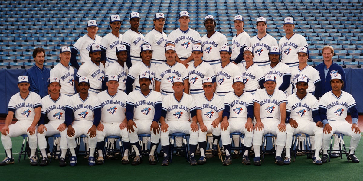
[[(294, 67), (295, 68), (295, 67)], [(321, 143), (323, 140), (323, 123), (319, 116), (318, 100), (311, 94), (307, 93), (309, 88), (309, 78), (299, 76), (296, 82), (297, 92), (287, 97), (286, 104), (286, 156), (284, 164), (290, 164), (290, 148), (293, 135), (297, 133), (306, 133), (314, 135), (314, 159), (313, 163), (322, 165), (322, 160), (319, 157)]]

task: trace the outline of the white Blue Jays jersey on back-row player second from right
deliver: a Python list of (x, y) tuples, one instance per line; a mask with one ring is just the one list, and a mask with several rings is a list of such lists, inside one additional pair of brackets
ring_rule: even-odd
[(253, 48), (253, 62), (258, 66), (266, 67), (270, 64), (269, 51), (271, 46), (278, 46), (274, 37), (266, 34), (261, 39), (256, 36), (251, 38), (251, 46)]

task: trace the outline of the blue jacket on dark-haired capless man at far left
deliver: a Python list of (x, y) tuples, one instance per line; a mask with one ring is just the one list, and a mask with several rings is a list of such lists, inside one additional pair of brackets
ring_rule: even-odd
[(48, 95), (48, 79), (50, 76), (50, 70), (43, 66), (43, 69), (39, 69), (36, 65), (26, 71), (28, 76), (30, 87), (29, 91), (33, 91), (40, 95), (41, 98)]

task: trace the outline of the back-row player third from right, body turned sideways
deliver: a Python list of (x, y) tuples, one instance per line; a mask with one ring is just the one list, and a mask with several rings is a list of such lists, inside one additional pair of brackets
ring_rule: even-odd
[(251, 45), (251, 38), (248, 33), (243, 30), (243, 26), (245, 25), (243, 16), (234, 16), (233, 22), (234, 29), (236, 29), (236, 36), (232, 38), (231, 61), (238, 67), (243, 67), (245, 62), (243, 57), (243, 51), (244, 48)]

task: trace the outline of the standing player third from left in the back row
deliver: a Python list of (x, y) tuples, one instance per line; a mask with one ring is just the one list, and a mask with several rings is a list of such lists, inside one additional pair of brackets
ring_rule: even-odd
[(130, 69), (132, 65), (141, 61), (140, 48), (144, 44), (145, 37), (139, 32), (140, 14), (132, 12), (130, 14), (130, 29), (123, 34), (122, 44), (126, 45), (127, 61), (126, 65)]

